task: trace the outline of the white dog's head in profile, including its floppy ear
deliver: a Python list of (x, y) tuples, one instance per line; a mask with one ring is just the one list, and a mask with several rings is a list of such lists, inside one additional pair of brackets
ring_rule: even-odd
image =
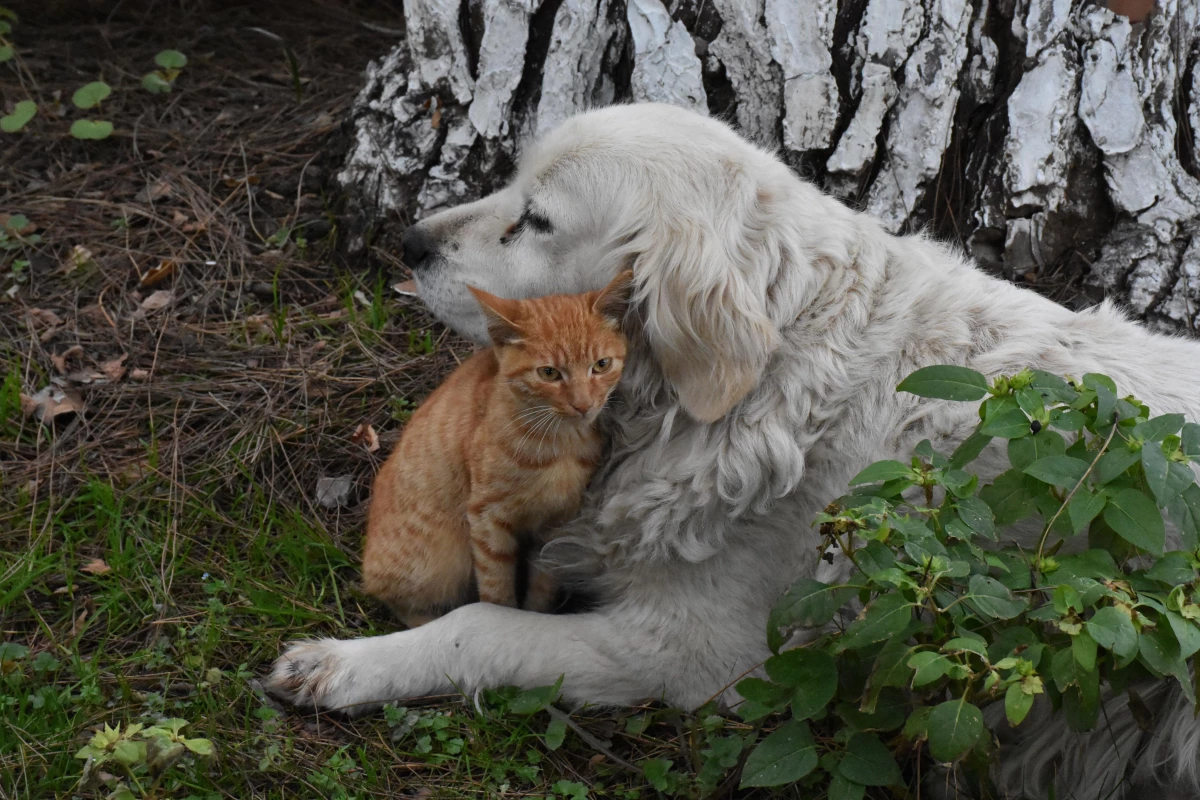
[(509, 297), (599, 289), (634, 270), (643, 335), (690, 416), (724, 416), (779, 343), (773, 235), (796, 179), (700, 114), (618, 106), (568, 120), (512, 182), (404, 233), (418, 290), (444, 323), (487, 341), (468, 285)]

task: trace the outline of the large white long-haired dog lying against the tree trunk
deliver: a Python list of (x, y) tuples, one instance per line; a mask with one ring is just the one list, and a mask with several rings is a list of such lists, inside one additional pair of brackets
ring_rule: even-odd
[[(552, 230), (510, 230), (530, 206)], [(558, 616), (472, 604), (412, 631), (299, 643), (271, 685), (300, 704), (361, 710), (559, 675), (581, 702), (736, 702), (731, 685), (769, 655), (773, 602), (817, 569), (814, 515), (865, 464), (926, 438), (948, 452), (978, 421), (973, 404), (896, 393), (920, 366), (1103, 372), (1154, 413), (1200, 420), (1200, 344), (1109, 305), (1069, 312), (944, 246), (889, 235), (677, 108), (574, 118), (511, 186), (420, 224), (437, 248), (416, 275), (422, 299), (479, 341), (468, 283), (533, 296), (634, 267), (614, 452), (570, 540), (572, 559), (601, 567), (606, 602)], [(1112, 730), (1075, 736), (1048, 715), (1003, 733), (997, 780), (1012, 796), (1044, 796), (1056, 774), (1058, 796), (1158, 783), (1195, 796), (1200, 726), (1170, 684), (1144, 698), (1154, 734), (1122, 699), (1106, 708)]]

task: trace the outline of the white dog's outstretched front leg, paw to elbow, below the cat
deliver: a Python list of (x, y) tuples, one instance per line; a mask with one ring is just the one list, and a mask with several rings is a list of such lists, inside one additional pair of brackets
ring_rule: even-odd
[(604, 612), (556, 616), (474, 603), (410, 631), (293, 644), (268, 690), (296, 705), (365, 714), (409, 697), (529, 688), (562, 675), (570, 698), (631, 704), (664, 691), (664, 676), (647, 668), (655, 660), (644, 648), (654, 643), (637, 638)]

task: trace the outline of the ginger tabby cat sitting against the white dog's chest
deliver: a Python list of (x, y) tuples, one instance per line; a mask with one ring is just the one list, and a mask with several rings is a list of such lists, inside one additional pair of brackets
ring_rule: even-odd
[[(364, 588), (408, 626), (479, 599), (517, 604), (517, 555), (578, 512), (624, 366), (632, 272), (600, 291), (504, 300), (472, 288), (493, 345), (413, 414), (372, 489)], [(530, 566), (526, 606), (557, 584)]]

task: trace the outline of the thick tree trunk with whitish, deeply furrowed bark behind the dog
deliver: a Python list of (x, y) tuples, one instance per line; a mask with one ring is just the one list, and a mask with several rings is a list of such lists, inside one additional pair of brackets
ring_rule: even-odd
[(707, 109), (894, 231), (1169, 330), (1200, 309), (1200, 0), (404, 0), (340, 181), (352, 249), (575, 112)]

